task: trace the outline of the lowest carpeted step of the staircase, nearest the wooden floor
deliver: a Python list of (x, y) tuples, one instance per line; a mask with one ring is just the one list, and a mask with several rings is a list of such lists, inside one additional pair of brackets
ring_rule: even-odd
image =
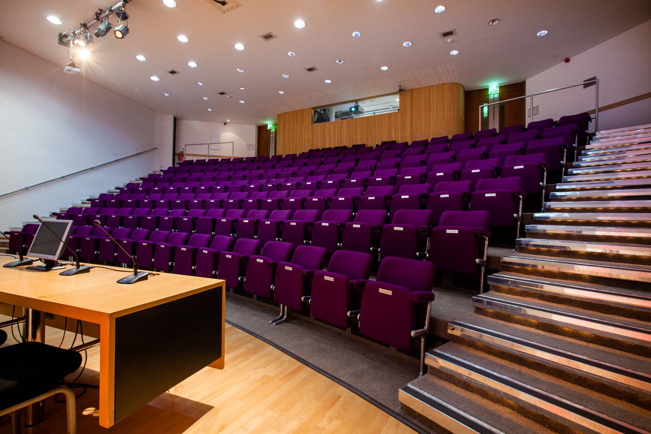
[[(434, 375), (423, 375), (400, 388), (398, 399), (412, 414), (427, 418), (446, 433), (553, 433), (515, 411)], [(439, 432), (436, 428), (434, 431)]]

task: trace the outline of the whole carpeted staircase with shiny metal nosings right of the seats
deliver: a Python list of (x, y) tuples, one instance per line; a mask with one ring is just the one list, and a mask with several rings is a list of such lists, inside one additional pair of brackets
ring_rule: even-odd
[(577, 151), (474, 313), (400, 389), (432, 431), (651, 431), (651, 125)]

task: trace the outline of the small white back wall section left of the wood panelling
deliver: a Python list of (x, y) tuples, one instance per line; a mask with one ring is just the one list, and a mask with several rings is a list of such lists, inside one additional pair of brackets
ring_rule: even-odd
[[(257, 129), (255, 125), (230, 124), (223, 122), (203, 122), (201, 120), (176, 121), (176, 150), (182, 149), (189, 143), (208, 143), (211, 134), (219, 134), (222, 142), (234, 142), (236, 157), (252, 157), (256, 152)], [(247, 149), (247, 144), (253, 144), (253, 149)], [(211, 154), (230, 156), (232, 145), (222, 144), (220, 150), (212, 150)], [(208, 146), (189, 146), (186, 154), (205, 153)], [(188, 157), (201, 159), (202, 157)]]

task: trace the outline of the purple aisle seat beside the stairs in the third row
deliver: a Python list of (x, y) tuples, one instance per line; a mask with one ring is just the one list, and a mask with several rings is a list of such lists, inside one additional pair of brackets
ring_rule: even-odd
[(470, 210), (484, 210), (490, 213), (490, 226), (516, 226), (516, 238), (519, 237), (522, 217), (522, 178), (483, 179), (477, 181), (475, 191), (470, 197)]

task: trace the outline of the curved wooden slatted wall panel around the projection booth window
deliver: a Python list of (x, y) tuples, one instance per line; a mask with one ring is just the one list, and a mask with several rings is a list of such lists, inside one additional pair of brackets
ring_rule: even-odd
[(312, 148), (368, 146), (383, 140), (411, 142), (464, 132), (464, 87), (445, 83), (405, 90), (400, 111), (385, 115), (312, 124), (312, 109), (278, 115), (278, 154)]

